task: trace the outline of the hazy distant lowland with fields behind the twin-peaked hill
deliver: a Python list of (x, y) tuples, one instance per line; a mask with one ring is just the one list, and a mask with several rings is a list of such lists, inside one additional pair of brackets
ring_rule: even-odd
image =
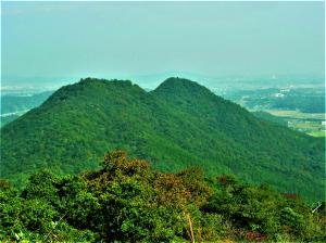
[[(148, 80), (160, 75), (138, 77), (138, 84), (146, 90)], [(325, 137), (325, 84), (323, 78), (313, 77), (201, 77), (195, 80), (210, 87), (216, 94), (231, 100), (248, 108), (260, 118), (279, 122), (285, 126), (314, 137)], [(72, 81), (71, 81), (72, 82)], [(158, 82), (153, 81), (152, 82)], [(51, 82), (50, 82), (51, 84)], [(14, 120), (33, 107), (40, 105), (53, 91), (52, 86), (11, 87), (7, 86), (1, 94), (1, 126)], [(230, 85), (233, 84), (233, 85)], [(263, 115), (268, 113), (275, 117)]]

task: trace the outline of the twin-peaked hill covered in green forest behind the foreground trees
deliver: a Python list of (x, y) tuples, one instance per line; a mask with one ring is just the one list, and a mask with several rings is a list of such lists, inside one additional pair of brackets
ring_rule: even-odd
[(323, 199), (323, 139), (259, 119), (181, 78), (151, 92), (91, 78), (62, 87), (1, 129), (1, 177), (23, 187), (39, 168), (77, 174), (115, 149), (164, 172), (199, 166), (211, 176), (236, 174)]

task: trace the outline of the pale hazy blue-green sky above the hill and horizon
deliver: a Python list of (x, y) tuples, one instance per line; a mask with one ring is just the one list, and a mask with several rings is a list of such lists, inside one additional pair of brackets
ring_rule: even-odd
[(324, 76), (323, 2), (2, 2), (2, 77)]

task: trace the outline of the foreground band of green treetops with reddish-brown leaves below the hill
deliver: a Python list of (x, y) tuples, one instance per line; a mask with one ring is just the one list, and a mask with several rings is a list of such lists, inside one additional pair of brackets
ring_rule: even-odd
[(78, 176), (38, 171), (21, 193), (0, 181), (2, 242), (325, 242), (325, 203), (122, 151)]

